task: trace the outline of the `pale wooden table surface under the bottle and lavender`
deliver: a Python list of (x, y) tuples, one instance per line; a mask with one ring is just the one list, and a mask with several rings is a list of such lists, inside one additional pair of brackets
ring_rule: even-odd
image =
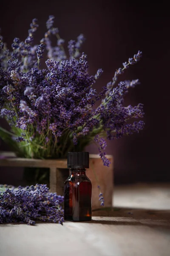
[(170, 256), (170, 185), (115, 187), (116, 198), (91, 222), (1, 224), (0, 256)]

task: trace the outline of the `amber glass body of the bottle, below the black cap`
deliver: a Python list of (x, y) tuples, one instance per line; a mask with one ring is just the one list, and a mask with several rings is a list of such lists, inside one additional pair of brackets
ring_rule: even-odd
[(91, 181), (85, 169), (71, 169), (64, 183), (64, 218), (68, 221), (91, 221)]

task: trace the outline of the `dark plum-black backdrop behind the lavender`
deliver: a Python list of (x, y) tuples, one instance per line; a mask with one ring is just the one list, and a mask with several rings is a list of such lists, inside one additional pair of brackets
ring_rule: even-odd
[[(35, 35), (38, 44), (46, 31), (48, 15), (56, 17), (55, 26), (66, 42), (80, 33), (85, 35), (82, 49), (88, 54), (89, 72), (104, 70), (95, 84), (97, 90), (111, 81), (122, 62), (138, 50), (143, 52), (142, 60), (119, 76), (119, 81), (137, 78), (141, 81), (130, 90), (125, 104), (144, 104), (145, 128), (139, 134), (108, 142), (107, 153), (114, 156), (115, 183), (170, 181), (168, 7), (162, 1), (153, 5), (115, 0), (3, 1), (0, 27), (8, 47), (15, 37), (25, 40), (34, 17), (40, 24)], [(1, 142), (0, 150), (5, 149), (9, 147)], [(98, 153), (93, 145), (87, 150)], [(4, 182), (2, 174), (0, 179)]]

